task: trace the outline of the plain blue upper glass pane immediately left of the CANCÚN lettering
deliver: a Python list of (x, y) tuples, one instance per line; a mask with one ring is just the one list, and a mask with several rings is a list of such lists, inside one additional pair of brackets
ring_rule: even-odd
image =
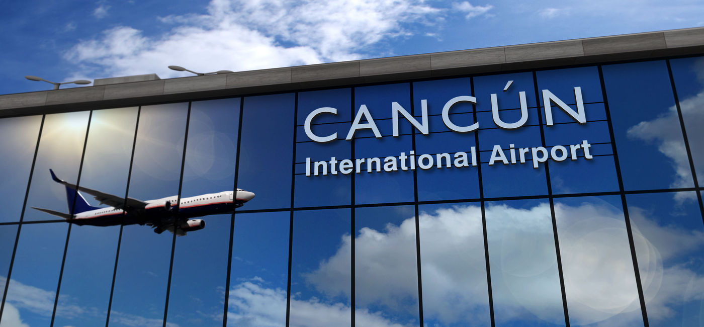
[(256, 198), (246, 209), (291, 206), (295, 94), (244, 99), (239, 185)]

